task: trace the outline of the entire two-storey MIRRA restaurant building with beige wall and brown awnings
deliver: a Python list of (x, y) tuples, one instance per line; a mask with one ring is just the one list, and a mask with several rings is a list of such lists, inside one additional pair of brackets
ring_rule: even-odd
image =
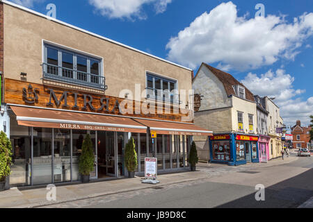
[(10, 185), (80, 180), (87, 134), (94, 180), (127, 176), (130, 137), (137, 175), (143, 175), (145, 157), (158, 158), (160, 173), (185, 169), (193, 136), (211, 135), (193, 123), (191, 69), (9, 1), (0, 3), (0, 16), (1, 128), (13, 144)]

